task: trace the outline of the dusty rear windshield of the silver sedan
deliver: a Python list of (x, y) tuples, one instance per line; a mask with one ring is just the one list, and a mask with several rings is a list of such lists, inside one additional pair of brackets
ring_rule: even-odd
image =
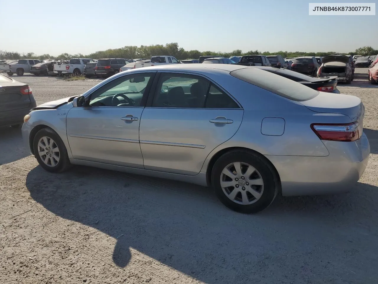
[(293, 101), (307, 101), (319, 92), (296, 81), (257, 68), (243, 68), (230, 73), (235, 78)]

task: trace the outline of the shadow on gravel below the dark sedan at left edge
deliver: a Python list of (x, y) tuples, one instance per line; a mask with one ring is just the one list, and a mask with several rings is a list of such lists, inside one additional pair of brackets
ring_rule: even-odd
[(21, 128), (0, 127), (0, 165), (17, 161), (30, 155), (23, 144)]

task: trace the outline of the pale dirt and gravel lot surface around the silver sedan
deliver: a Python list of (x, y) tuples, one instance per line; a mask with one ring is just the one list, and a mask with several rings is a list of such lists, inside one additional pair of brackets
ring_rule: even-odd
[[(38, 104), (101, 81), (13, 77)], [(0, 128), (0, 283), (376, 284), (378, 86), (360, 68), (339, 89), (366, 107), (371, 154), (358, 185), (277, 197), (256, 215), (191, 184), (78, 166), (48, 173), (20, 130)]]

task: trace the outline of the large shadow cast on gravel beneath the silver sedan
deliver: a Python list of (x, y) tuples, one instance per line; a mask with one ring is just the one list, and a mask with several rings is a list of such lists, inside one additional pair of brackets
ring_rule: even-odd
[(277, 197), (254, 215), (230, 211), (205, 187), (90, 167), (53, 174), (37, 166), (26, 187), (47, 210), (115, 238), (114, 250), (104, 251), (118, 267), (134, 248), (209, 284), (378, 277), (378, 187), (369, 184)]

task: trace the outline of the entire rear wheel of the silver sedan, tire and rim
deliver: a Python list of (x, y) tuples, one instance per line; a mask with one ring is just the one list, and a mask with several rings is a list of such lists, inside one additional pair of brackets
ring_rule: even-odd
[(272, 166), (259, 154), (244, 150), (223, 154), (212, 169), (211, 183), (223, 204), (243, 213), (267, 208), (278, 192)]

